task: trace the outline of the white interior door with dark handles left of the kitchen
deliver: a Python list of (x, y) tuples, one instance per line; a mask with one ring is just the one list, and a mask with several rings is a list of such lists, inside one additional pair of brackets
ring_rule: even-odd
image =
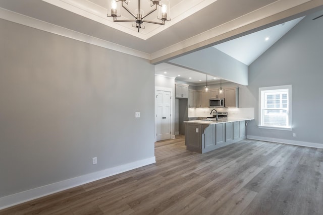
[(156, 140), (171, 138), (171, 99), (169, 91), (156, 91)]

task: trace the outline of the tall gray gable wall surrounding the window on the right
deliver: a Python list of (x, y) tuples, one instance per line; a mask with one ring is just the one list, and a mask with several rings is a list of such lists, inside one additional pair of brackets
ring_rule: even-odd
[[(255, 108), (248, 135), (323, 144), (323, 18), (311, 20), (316, 15), (305, 17), (249, 66), (249, 93), (240, 99), (242, 107)], [(292, 131), (259, 129), (258, 88), (280, 85), (292, 85)]]

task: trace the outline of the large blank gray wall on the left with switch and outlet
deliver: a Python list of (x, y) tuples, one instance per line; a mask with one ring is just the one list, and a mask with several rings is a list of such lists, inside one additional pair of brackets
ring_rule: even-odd
[(0, 29), (0, 197), (154, 156), (149, 61), (1, 19)]

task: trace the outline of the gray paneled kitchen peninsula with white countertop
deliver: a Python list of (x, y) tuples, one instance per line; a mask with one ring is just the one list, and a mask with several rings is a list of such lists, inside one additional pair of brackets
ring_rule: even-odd
[(246, 126), (254, 118), (221, 118), (184, 121), (186, 149), (206, 153), (233, 144), (246, 136)]

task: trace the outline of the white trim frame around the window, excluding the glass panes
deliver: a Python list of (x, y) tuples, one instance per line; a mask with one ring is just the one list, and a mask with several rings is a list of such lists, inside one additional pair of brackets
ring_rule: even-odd
[[(288, 127), (281, 126), (263, 126), (261, 125), (261, 91), (264, 90), (279, 90), (279, 89), (288, 89), (288, 102), (289, 102), (289, 118), (288, 118)], [(264, 129), (274, 129), (274, 130), (292, 130), (292, 85), (282, 85), (282, 86), (273, 86), (273, 87), (261, 87), (258, 92), (258, 128)]]

